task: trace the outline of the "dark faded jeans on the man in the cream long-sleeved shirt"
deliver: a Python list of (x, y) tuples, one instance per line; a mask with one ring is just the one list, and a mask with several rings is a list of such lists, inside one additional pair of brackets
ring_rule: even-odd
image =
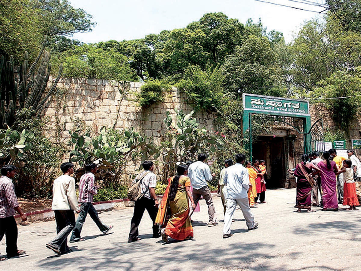
[(54, 210), (57, 236), (49, 242), (61, 252), (68, 248), (68, 235), (75, 226), (74, 210)]

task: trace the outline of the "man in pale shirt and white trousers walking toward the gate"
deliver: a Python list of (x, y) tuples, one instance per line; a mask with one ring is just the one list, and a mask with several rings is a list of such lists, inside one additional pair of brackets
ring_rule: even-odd
[(243, 167), (245, 158), (245, 155), (237, 154), (236, 164), (226, 169), (224, 183), (227, 186), (227, 209), (223, 225), (223, 238), (232, 236), (231, 224), (237, 204), (243, 212), (248, 230), (258, 227), (258, 222), (255, 221), (248, 203), (249, 175), (248, 169)]

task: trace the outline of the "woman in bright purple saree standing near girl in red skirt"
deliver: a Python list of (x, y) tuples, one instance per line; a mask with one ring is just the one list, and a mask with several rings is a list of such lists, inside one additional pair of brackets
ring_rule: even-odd
[(323, 153), (323, 161), (318, 162), (317, 166), (321, 169), (321, 188), (322, 188), (322, 211), (333, 209), (338, 211), (338, 201), (336, 193), (336, 173), (338, 173), (337, 165), (334, 161), (329, 160), (330, 152)]

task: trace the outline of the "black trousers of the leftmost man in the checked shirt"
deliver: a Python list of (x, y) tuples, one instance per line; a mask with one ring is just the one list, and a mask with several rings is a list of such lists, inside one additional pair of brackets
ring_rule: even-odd
[(0, 218), (0, 241), (5, 235), (6, 238), (6, 254), (9, 257), (16, 255), (18, 252), (18, 226), (14, 216)]

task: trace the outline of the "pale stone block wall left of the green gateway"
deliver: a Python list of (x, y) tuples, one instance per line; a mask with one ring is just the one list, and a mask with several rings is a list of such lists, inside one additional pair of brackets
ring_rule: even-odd
[[(167, 111), (175, 116), (174, 109), (183, 112), (192, 111), (192, 106), (185, 102), (184, 93), (173, 88), (166, 93), (165, 101), (142, 108), (135, 102), (135, 92), (140, 91), (143, 83), (131, 82), (130, 94), (121, 101), (121, 94), (116, 81), (100, 79), (62, 79), (57, 89), (60, 90), (45, 106), (44, 115), (49, 117), (50, 135), (61, 140), (69, 138), (68, 130), (74, 124), (84, 121), (86, 126), (97, 133), (103, 126), (115, 128), (129, 128), (142, 131), (146, 136), (155, 138), (159, 142), (164, 132), (163, 119)], [(120, 107), (120, 108), (119, 108)], [(119, 114), (117, 113), (119, 109)], [(216, 113), (195, 113), (194, 117), (200, 126), (214, 129)]]

